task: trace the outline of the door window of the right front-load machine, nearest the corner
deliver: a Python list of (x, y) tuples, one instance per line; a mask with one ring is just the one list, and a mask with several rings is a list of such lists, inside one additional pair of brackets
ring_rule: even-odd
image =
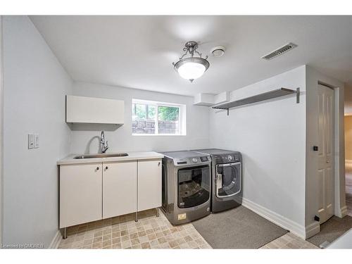
[(241, 163), (216, 165), (215, 190), (218, 198), (234, 196), (241, 191)]

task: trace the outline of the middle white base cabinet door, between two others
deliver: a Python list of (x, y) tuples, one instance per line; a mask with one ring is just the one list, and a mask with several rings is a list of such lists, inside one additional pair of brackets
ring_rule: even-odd
[(137, 211), (137, 161), (103, 163), (103, 218)]

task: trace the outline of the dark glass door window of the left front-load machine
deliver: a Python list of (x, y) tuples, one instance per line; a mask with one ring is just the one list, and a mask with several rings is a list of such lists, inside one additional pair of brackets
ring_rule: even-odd
[(208, 165), (180, 169), (177, 172), (179, 208), (199, 206), (210, 197), (210, 168)]

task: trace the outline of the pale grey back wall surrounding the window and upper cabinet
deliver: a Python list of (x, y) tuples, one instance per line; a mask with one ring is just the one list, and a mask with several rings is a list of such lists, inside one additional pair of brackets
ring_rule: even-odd
[[(193, 106), (193, 97), (75, 82), (73, 95), (120, 99), (125, 101), (125, 125), (73, 125), (71, 153), (96, 153), (101, 130), (105, 130), (108, 151), (173, 151), (208, 147), (208, 107)], [(182, 103), (186, 105), (187, 135), (132, 136), (132, 99)]]

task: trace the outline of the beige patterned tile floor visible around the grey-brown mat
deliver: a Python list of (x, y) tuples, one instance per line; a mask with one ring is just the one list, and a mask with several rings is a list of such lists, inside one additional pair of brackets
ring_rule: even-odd
[[(163, 213), (155, 210), (89, 222), (68, 227), (68, 238), (59, 249), (211, 249), (191, 223), (173, 226)], [(313, 244), (288, 233), (262, 249), (318, 249)]]

